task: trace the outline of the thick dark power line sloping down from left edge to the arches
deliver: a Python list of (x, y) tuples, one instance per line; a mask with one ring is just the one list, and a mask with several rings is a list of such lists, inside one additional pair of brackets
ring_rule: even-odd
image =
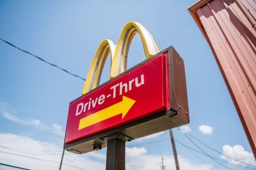
[(85, 80), (84, 78), (82, 78), (81, 76), (78, 76), (77, 74), (71, 73), (70, 71), (67, 71), (67, 69), (63, 69), (62, 67), (57, 66), (56, 64), (52, 64), (51, 62), (48, 62), (47, 60), (44, 60), (44, 59), (42, 59), (41, 57), (38, 57), (37, 55), (35, 55), (35, 54), (31, 53), (31, 52), (28, 52), (28, 51), (26, 51), (26, 50), (23, 50), (22, 48), (19, 48), (18, 46), (15, 46), (15, 45), (13, 45), (12, 43), (10, 43), (10, 42), (8, 42), (8, 41), (2, 39), (2, 38), (0, 38), (0, 40), (3, 41), (4, 43), (10, 45), (10, 46), (13, 46), (14, 48), (17, 48), (18, 50), (20, 50), (20, 51), (22, 51), (22, 52), (24, 52), (24, 53), (28, 53), (29, 55), (32, 55), (32, 56), (35, 57), (36, 59), (38, 59), (38, 60), (40, 60), (40, 61), (42, 61), (42, 62), (45, 62), (45, 63), (49, 64), (50, 66), (56, 67), (56, 68), (60, 69), (61, 71), (64, 71), (65, 73), (68, 73), (68, 74), (70, 74), (70, 75), (72, 75), (72, 76), (75, 76), (75, 77), (77, 77), (77, 78), (80, 78), (81, 80), (86, 81), (86, 80)]

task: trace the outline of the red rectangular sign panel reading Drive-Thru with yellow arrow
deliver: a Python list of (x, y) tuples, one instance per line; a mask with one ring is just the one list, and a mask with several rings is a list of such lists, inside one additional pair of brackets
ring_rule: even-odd
[(70, 103), (65, 144), (170, 108), (168, 73), (161, 54)]

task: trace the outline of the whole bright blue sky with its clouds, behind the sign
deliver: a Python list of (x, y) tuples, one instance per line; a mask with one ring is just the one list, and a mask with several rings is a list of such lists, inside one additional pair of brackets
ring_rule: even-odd
[[(233, 159), (256, 166), (211, 49), (187, 10), (195, 2), (0, 1), (0, 38), (86, 78), (102, 39), (116, 43), (127, 22), (140, 22), (161, 50), (172, 45), (185, 62), (191, 122), (182, 127), (183, 132), (173, 129), (175, 139), (199, 150), (184, 136), (190, 134)], [(143, 56), (137, 35), (129, 51), (128, 67), (144, 60)], [(101, 82), (108, 80), (108, 74), (109, 60)], [(31, 169), (58, 168), (68, 104), (81, 95), (84, 82), (2, 41), (0, 78), (0, 163)], [(165, 131), (127, 143), (127, 169), (160, 169), (162, 156), (166, 169), (173, 169), (167, 138)], [(225, 167), (176, 143), (181, 169), (247, 167), (193, 140)], [(104, 169), (106, 149), (81, 156), (67, 153), (64, 162), (84, 169)], [(76, 169), (67, 164), (63, 169)]]

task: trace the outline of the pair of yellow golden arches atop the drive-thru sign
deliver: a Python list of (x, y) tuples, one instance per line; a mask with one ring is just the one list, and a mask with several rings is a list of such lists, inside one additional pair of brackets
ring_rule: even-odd
[(104, 39), (100, 43), (88, 71), (82, 95), (99, 85), (102, 69), (109, 54), (111, 56), (109, 79), (126, 70), (129, 47), (136, 33), (140, 35), (146, 58), (160, 51), (155, 39), (143, 25), (138, 22), (128, 22), (121, 32), (117, 45), (110, 39)]

